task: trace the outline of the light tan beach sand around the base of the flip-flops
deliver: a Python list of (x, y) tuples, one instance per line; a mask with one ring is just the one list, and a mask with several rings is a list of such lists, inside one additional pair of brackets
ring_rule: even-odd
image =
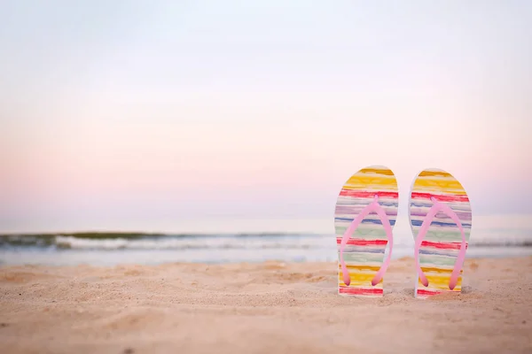
[(333, 263), (0, 267), (2, 353), (532, 352), (532, 257), (468, 259), (462, 294), (337, 295)]

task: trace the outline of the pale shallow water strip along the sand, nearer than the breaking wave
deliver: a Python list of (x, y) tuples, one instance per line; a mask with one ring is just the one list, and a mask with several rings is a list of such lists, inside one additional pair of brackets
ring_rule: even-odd
[[(213, 254), (215, 252), (215, 254)], [(466, 259), (532, 257), (532, 247), (469, 247)], [(413, 259), (409, 247), (395, 247), (392, 259)], [(176, 263), (210, 266), (241, 263), (284, 262), (295, 264), (336, 263), (336, 249), (192, 249), (192, 250), (83, 250), (83, 249), (9, 249), (0, 247), (0, 268), (8, 266), (162, 266)]]

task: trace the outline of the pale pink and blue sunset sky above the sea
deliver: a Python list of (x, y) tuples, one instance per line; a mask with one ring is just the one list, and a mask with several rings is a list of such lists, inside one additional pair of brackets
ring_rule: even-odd
[(367, 165), (406, 219), (428, 167), (532, 214), (531, 42), (528, 1), (0, 0), (0, 232), (332, 231)]

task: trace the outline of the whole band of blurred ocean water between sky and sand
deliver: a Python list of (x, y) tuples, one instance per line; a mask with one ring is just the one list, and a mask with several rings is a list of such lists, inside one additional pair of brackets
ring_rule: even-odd
[[(530, 220), (528, 216), (475, 218), (467, 257), (532, 255)], [(0, 235), (0, 265), (332, 262), (337, 246), (332, 221), (327, 222), (329, 233)], [(412, 257), (413, 246), (410, 225), (398, 222), (392, 258)]]

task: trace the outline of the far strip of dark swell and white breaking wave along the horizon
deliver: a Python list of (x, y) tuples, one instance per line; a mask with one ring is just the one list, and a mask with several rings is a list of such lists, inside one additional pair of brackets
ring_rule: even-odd
[[(475, 235), (470, 248), (532, 247), (531, 237)], [(335, 250), (333, 235), (234, 234), (61, 234), (0, 235), (1, 248), (48, 248), (56, 250)], [(411, 249), (413, 240), (395, 235), (395, 248)]]

